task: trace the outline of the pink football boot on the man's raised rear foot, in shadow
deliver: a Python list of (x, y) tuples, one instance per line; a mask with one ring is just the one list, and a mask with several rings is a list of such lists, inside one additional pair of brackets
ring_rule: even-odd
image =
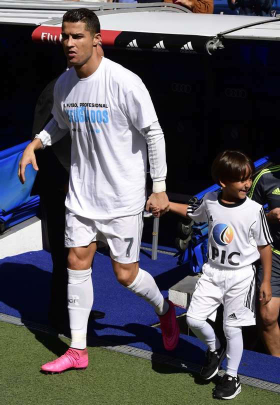
[(179, 325), (173, 302), (166, 299), (169, 304), (168, 311), (159, 316), (162, 340), (165, 350), (174, 350), (179, 341)]

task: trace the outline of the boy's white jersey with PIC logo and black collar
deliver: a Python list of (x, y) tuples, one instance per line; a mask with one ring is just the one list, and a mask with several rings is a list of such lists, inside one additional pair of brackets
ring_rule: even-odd
[(272, 242), (266, 216), (260, 204), (248, 197), (236, 204), (220, 200), (220, 191), (207, 192), (187, 208), (195, 222), (208, 222), (208, 262), (238, 269), (259, 258), (257, 246)]

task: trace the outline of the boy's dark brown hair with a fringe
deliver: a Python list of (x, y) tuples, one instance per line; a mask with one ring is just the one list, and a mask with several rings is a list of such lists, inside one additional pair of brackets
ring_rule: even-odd
[[(247, 172), (247, 169), (249, 170)], [(219, 184), (219, 180), (243, 181), (254, 173), (252, 160), (239, 150), (224, 150), (214, 159), (211, 166), (213, 180)]]

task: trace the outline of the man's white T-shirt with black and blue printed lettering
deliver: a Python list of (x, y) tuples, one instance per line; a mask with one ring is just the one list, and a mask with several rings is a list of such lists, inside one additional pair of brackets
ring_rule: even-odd
[(157, 116), (141, 79), (104, 57), (86, 78), (70, 68), (55, 84), (52, 113), (72, 138), (66, 207), (92, 219), (142, 211), (146, 141), (139, 130)]

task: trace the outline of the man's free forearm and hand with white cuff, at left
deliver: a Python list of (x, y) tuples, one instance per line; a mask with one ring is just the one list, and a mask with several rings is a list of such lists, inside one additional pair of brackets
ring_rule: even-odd
[(23, 184), (25, 182), (25, 167), (27, 164), (32, 164), (34, 170), (38, 170), (35, 151), (38, 149), (44, 149), (59, 139), (61, 139), (66, 133), (67, 129), (61, 129), (58, 123), (52, 118), (44, 127), (44, 129), (30, 142), (24, 149), (22, 157), (18, 163), (17, 175), (20, 182)]

